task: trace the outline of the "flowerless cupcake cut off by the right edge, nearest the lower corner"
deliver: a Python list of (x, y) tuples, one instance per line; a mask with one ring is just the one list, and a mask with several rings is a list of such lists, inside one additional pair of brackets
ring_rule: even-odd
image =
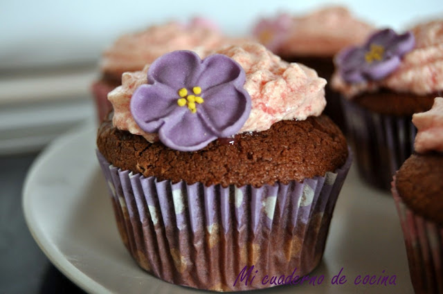
[(392, 181), (416, 294), (443, 293), (443, 98), (413, 115), (415, 154)]

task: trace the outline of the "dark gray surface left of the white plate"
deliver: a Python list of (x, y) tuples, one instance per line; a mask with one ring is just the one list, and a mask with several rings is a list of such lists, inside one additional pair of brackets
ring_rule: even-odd
[(21, 190), (36, 156), (0, 157), (0, 294), (84, 293), (48, 261), (26, 227)]

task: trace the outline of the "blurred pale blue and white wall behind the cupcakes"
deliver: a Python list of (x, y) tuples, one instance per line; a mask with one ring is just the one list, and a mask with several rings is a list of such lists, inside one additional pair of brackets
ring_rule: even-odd
[(325, 5), (395, 29), (443, 12), (441, 0), (1, 1), (0, 154), (35, 151), (93, 120), (89, 92), (100, 53), (123, 33), (201, 15), (226, 34), (246, 35), (260, 16), (302, 15)]

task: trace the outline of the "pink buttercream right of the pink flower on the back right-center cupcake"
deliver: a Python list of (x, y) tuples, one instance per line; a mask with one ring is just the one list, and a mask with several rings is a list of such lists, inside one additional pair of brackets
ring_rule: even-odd
[(345, 46), (363, 43), (373, 30), (369, 24), (352, 17), (346, 8), (324, 8), (293, 17), (278, 53), (332, 57)]

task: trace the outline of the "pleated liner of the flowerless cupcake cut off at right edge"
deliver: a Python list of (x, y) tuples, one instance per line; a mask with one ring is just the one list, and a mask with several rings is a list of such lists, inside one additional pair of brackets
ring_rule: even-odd
[(416, 294), (443, 294), (443, 227), (415, 214), (401, 200), (392, 181), (408, 255), (410, 279)]

